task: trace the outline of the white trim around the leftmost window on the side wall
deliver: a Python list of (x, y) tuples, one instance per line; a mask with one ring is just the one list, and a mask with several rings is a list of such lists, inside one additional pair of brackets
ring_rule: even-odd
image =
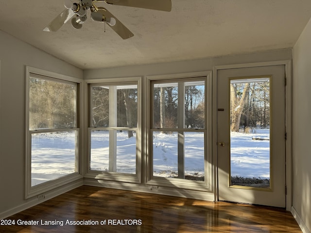
[[(35, 197), (39, 194), (45, 193), (47, 191), (50, 191), (54, 188), (60, 187), (62, 185), (71, 183), (73, 181), (79, 180), (82, 178), (81, 175), (81, 165), (80, 165), (80, 157), (81, 157), (81, 133), (80, 133), (80, 128), (75, 128), (75, 129), (67, 129), (67, 130), (77, 130), (78, 132), (78, 143), (76, 145), (76, 172), (71, 173), (69, 175), (60, 177), (58, 179), (54, 179), (45, 183), (41, 183), (35, 186), (31, 186), (31, 132), (29, 131), (29, 81), (31, 77), (31, 73), (37, 74), (37, 75), (42, 75), (47, 77), (46, 79), (49, 80), (51, 79), (57, 79), (60, 82), (72, 82), (72, 83), (77, 83), (77, 98), (78, 98), (78, 103), (77, 103), (77, 125), (81, 126), (81, 116), (80, 114), (80, 109), (81, 109), (81, 87), (82, 87), (82, 80), (54, 73), (51, 71), (46, 71), (43, 69), (38, 69), (35, 67), (28, 67), (26, 66), (26, 91), (25, 91), (25, 199)], [(80, 100), (80, 101), (79, 101)]]

